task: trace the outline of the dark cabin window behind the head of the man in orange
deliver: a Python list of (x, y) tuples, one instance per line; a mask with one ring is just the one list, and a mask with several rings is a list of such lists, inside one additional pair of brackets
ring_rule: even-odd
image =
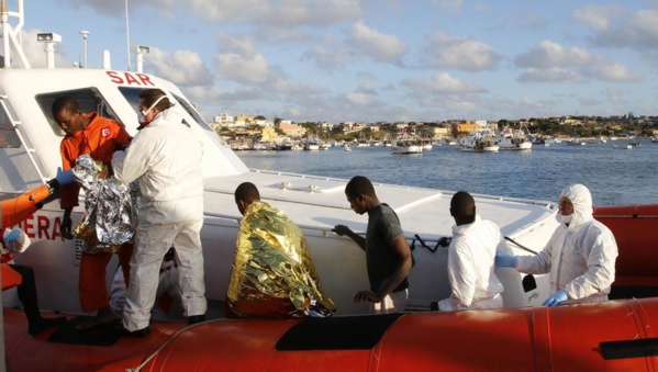
[(41, 111), (44, 113), (46, 119), (48, 120), (48, 124), (53, 128), (56, 135), (64, 137), (65, 133), (59, 127), (59, 124), (55, 122), (53, 117), (53, 102), (59, 97), (73, 97), (78, 104), (80, 105), (80, 111), (82, 113), (98, 112), (101, 116), (113, 119), (121, 123), (119, 120), (119, 115), (110, 108), (108, 104), (108, 100), (103, 98), (103, 95), (96, 88), (83, 88), (76, 90), (64, 90), (53, 93), (45, 93), (36, 95), (36, 102), (38, 102), (38, 106)]

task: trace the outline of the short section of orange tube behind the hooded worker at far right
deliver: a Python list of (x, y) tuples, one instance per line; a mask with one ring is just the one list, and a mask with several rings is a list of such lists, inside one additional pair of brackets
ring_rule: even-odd
[(612, 230), (620, 250), (613, 285), (657, 286), (658, 204), (598, 206), (594, 218)]

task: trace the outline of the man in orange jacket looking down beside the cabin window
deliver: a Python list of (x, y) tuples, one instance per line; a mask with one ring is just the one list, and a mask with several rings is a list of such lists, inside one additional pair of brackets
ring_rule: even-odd
[[(65, 171), (74, 168), (76, 159), (82, 154), (89, 154), (92, 159), (109, 167), (112, 154), (118, 148), (126, 146), (131, 140), (131, 136), (122, 124), (102, 117), (96, 112), (82, 114), (78, 102), (70, 97), (59, 97), (53, 102), (53, 117), (66, 133), (59, 147), (62, 168)], [(67, 184), (60, 190), (60, 206), (64, 210), (60, 232), (62, 236), (67, 239), (74, 237), (70, 213), (74, 206), (78, 205), (79, 192), (80, 187), (77, 183)], [(130, 277), (132, 248), (132, 244), (125, 244), (119, 252), (126, 284)], [(110, 295), (105, 283), (105, 267), (111, 258), (112, 253), (109, 252), (93, 255), (82, 252), (78, 279), (80, 305), (83, 312), (98, 313), (89, 322), (80, 324), (79, 330), (115, 320), (110, 308)]]

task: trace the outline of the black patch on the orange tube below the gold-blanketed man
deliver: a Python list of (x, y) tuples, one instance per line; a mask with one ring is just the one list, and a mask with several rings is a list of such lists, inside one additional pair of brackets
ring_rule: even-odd
[(277, 350), (372, 349), (389, 327), (404, 314), (306, 318), (277, 342)]

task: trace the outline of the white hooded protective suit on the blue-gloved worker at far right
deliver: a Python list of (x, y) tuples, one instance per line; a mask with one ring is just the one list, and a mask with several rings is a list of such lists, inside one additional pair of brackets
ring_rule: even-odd
[[(537, 256), (520, 256), (516, 269), (532, 274), (550, 272), (551, 294), (565, 290), (561, 304), (606, 301), (614, 282), (617, 244), (612, 232), (592, 216), (592, 195), (582, 184), (562, 190), (573, 203), (571, 221), (561, 223)], [(561, 215), (558, 213), (558, 219)]]

